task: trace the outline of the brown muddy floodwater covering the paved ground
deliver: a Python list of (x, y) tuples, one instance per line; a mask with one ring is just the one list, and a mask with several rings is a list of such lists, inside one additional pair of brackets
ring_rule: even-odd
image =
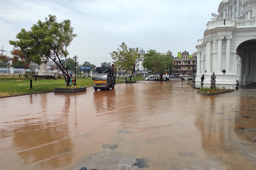
[(0, 99), (0, 169), (256, 169), (256, 89), (178, 81)]

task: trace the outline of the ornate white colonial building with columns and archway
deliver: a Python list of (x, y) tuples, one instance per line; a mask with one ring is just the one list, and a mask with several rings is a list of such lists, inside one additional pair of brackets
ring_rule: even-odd
[(196, 86), (205, 74), (204, 86), (209, 87), (213, 71), (216, 86), (235, 89), (236, 80), (256, 82), (256, 0), (223, 0), (218, 12), (196, 45)]

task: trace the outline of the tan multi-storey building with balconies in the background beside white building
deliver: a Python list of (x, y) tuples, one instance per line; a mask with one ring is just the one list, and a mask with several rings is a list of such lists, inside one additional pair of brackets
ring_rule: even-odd
[(189, 55), (186, 50), (182, 53), (178, 52), (178, 56), (174, 57), (173, 60), (174, 67), (172, 70), (172, 74), (190, 75), (196, 72), (196, 53), (193, 53), (193, 55)]

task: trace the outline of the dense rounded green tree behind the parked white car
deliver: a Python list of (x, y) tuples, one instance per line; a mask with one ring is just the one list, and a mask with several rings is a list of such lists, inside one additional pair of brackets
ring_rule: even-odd
[(173, 59), (170, 54), (161, 55), (156, 50), (150, 49), (148, 53), (144, 54), (144, 61), (142, 66), (152, 72), (161, 73), (161, 79), (163, 79), (164, 72), (170, 72), (173, 69)]

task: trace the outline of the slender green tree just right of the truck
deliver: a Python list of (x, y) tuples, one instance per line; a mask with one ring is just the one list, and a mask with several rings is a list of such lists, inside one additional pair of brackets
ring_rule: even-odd
[[(116, 66), (125, 68), (127, 71), (132, 71), (133, 75), (137, 59), (140, 57), (139, 48), (128, 48), (124, 42), (119, 46), (121, 49), (117, 48), (117, 51), (113, 51), (110, 55)], [(132, 80), (132, 75), (130, 81)]]

